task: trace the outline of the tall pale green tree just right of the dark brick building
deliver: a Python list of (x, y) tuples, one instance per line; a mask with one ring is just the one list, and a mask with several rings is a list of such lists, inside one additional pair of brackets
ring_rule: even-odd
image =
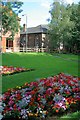
[(68, 47), (68, 41), (72, 38), (74, 22), (70, 20), (70, 5), (61, 2), (54, 2), (50, 11), (51, 21), (49, 24), (49, 38), (51, 49), (59, 49), (63, 44), (63, 49)]

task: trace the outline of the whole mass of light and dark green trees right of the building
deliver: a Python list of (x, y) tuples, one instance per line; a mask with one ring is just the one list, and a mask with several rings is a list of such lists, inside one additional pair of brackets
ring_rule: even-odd
[(49, 24), (50, 49), (60, 51), (61, 44), (63, 50), (68, 52), (79, 51), (80, 34), (80, 4), (65, 5), (61, 2), (52, 4)]

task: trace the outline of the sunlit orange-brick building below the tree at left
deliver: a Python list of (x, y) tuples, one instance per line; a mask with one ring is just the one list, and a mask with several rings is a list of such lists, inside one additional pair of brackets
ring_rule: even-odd
[(18, 52), (20, 47), (20, 32), (16, 33), (14, 40), (6, 40), (9, 37), (10, 32), (2, 35), (1, 49), (2, 52)]

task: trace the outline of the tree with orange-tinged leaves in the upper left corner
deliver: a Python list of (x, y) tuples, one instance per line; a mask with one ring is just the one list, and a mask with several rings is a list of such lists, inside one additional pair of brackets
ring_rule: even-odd
[(22, 12), (22, 2), (1, 2), (0, 14), (2, 15), (3, 34), (11, 32), (8, 39), (14, 39), (14, 35), (19, 30), (18, 14)]

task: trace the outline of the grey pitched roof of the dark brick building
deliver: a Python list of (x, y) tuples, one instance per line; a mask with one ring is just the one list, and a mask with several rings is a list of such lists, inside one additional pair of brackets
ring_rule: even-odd
[[(31, 33), (47, 33), (48, 25), (38, 25), (36, 27), (27, 28), (27, 34)], [(26, 32), (21, 32), (21, 34), (25, 34)]]

